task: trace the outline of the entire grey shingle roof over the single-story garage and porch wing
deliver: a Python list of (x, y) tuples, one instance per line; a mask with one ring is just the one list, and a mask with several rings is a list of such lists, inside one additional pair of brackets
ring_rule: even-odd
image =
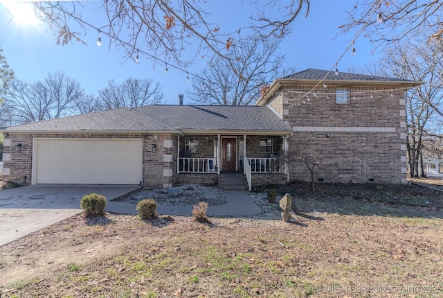
[(290, 132), (268, 107), (147, 105), (14, 125), (7, 132), (242, 130)]

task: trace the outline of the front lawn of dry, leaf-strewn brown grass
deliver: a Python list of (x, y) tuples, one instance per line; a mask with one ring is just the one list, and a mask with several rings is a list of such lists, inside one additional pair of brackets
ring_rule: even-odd
[(64, 220), (0, 247), (1, 297), (442, 297), (442, 192), (291, 184), (286, 223), (257, 191), (253, 218)]

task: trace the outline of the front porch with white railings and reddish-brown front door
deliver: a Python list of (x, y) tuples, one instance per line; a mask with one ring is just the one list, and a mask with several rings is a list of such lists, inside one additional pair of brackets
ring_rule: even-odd
[[(184, 135), (178, 137), (177, 177), (183, 183), (219, 185), (221, 173), (237, 172), (252, 185), (287, 182), (287, 139), (265, 135)], [(269, 182), (269, 178), (272, 182)]]

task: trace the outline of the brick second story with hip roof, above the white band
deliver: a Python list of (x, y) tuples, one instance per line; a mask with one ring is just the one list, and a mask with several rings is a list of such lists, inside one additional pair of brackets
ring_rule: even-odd
[(292, 127), (400, 127), (404, 93), (423, 82), (306, 69), (274, 80), (256, 105)]

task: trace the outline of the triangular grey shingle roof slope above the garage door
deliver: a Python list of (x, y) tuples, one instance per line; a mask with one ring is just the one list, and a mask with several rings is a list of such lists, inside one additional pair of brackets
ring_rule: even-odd
[(131, 130), (172, 130), (168, 125), (123, 107), (93, 112), (78, 116), (24, 123), (6, 128), (8, 131), (131, 131)]

